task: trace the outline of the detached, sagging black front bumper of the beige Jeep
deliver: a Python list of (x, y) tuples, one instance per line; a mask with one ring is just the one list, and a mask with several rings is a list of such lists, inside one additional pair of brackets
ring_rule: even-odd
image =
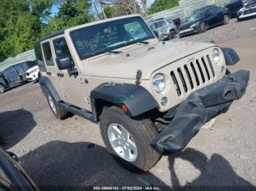
[(248, 81), (249, 71), (240, 70), (189, 95), (170, 124), (151, 141), (151, 147), (161, 155), (184, 149), (204, 123), (226, 112), (234, 100), (244, 95)]

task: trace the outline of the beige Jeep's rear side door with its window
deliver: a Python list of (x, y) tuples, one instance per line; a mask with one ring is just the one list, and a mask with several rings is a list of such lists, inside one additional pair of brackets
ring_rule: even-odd
[(61, 100), (67, 101), (67, 95), (64, 91), (64, 80), (58, 76), (59, 70), (57, 69), (56, 63), (53, 61), (53, 47), (50, 40), (42, 42), (41, 47), (46, 69), (45, 75), (50, 79), (50, 82), (59, 94)]

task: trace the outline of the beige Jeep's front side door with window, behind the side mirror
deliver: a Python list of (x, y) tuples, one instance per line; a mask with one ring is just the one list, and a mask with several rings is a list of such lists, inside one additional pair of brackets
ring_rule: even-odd
[[(53, 38), (53, 60), (56, 64), (56, 58), (71, 56), (69, 52), (69, 47), (67, 46), (66, 39), (64, 36), (57, 36)], [(75, 69), (78, 69), (75, 66)], [(69, 76), (67, 69), (58, 70), (59, 77), (61, 77), (61, 81), (64, 82), (64, 91), (67, 96), (67, 103), (77, 106), (82, 109), (90, 110), (91, 106), (89, 104), (89, 96), (86, 94), (86, 87), (82, 79), (80, 78), (80, 74), (78, 76)]]

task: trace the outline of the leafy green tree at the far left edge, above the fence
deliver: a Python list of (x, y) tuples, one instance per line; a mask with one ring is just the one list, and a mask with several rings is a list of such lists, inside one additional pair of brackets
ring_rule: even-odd
[(31, 49), (39, 37), (40, 20), (26, 0), (1, 0), (0, 61)]

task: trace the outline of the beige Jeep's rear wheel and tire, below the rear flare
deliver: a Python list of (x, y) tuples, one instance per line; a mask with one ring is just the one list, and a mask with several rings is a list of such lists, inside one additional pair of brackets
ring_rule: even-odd
[(51, 95), (47, 94), (47, 101), (50, 106), (50, 110), (53, 112), (54, 116), (59, 120), (65, 120), (69, 117), (69, 112), (64, 109), (61, 109), (57, 104), (56, 101), (53, 100)]

